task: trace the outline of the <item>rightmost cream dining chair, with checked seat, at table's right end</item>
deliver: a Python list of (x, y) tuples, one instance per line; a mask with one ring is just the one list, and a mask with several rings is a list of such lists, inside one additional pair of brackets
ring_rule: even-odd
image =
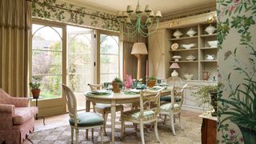
[[(182, 127), (181, 110), (182, 110), (182, 103), (184, 100), (184, 90), (186, 89), (186, 86), (188, 86), (188, 84), (186, 84), (182, 87), (174, 86), (171, 90), (170, 102), (164, 103), (160, 106), (159, 114), (164, 114), (165, 116), (166, 115), (170, 116), (171, 130), (174, 135), (176, 135), (175, 130), (174, 130), (174, 115), (178, 115), (179, 126)], [(175, 102), (174, 101), (175, 97), (180, 97), (181, 100), (179, 102)], [(166, 117), (164, 119), (164, 122), (165, 121), (166, 121)]]

